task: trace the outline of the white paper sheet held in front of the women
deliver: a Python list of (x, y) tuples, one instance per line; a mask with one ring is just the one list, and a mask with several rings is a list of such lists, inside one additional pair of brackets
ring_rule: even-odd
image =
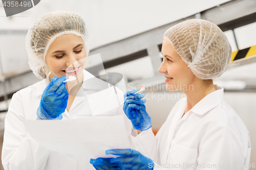
[(122, 115), (71, 120), (24, 120), (28, 133), (44, 147), (96, 159), (109, 149), (129, 149)]

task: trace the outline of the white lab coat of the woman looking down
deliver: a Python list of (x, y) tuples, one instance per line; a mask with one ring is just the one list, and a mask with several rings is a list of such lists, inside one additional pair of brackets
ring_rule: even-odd
[[(26, 132), (23, 119), (35, 120), (37, 118), (36, 110), (39, 106), (42, 92), (50, 83), (49, 75), (46, 79), (13, 94), (8, 113), (5, 118), (5, 133), (2, 151), (3, 166), (6, 170), (95, 169), (90, 164), (90, 159), (50, 151), (40, 145)], [(88, 71), (83, 70), (83, 81), (93, 77), (94, 76)], [(62, 119), (75, 119), (92, 116), (88, 100), (86, 96), (84, 96), (84, 93), (88, 90), (92, 89), (86, 89), (83, 85), (81, 86), (69, 112), (66, 110), (65, 113), (62, 113)], [(123, 94), (119, 94), (119, 96), (122, 95)], [(119, 108), (103, 114), (117, 115), (124, 114), (124, 112), (122, 111), (121, 105)], [(130, 137), (132, 124), (126, 116), (125, 127), (127, 130), (127, 136)]]

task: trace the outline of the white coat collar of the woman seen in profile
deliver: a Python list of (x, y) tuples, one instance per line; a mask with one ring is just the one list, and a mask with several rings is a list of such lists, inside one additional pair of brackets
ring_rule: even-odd
[(203, 115), (223, 101), (224, 89), (216, 84), (214, 87), (216, 91), (207, 94), (192, 109), (190, 109), (191, 112), (197, 115)]

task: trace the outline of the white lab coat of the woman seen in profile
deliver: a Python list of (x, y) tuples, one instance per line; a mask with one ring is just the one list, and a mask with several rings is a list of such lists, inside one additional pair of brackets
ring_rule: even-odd
[(211, 169), (215, 165), (212, 169), (249, 169), (249, 132), (223, 101), (223, 88), (215, 88), (183, 117), (187, 101), (179, 100), (156, 136), (152, 129), (139, 135), (132, 131), (135, 150), (154, 160), (154, 170)]

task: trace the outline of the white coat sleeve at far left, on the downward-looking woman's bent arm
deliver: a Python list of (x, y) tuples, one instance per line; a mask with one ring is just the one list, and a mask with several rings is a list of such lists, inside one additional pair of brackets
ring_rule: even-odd
[(14, 93), (5, 118), (2, 164), (5, 170), (44, 169), (51, 151), (26, 132), (22, 102), (20, 94)]

